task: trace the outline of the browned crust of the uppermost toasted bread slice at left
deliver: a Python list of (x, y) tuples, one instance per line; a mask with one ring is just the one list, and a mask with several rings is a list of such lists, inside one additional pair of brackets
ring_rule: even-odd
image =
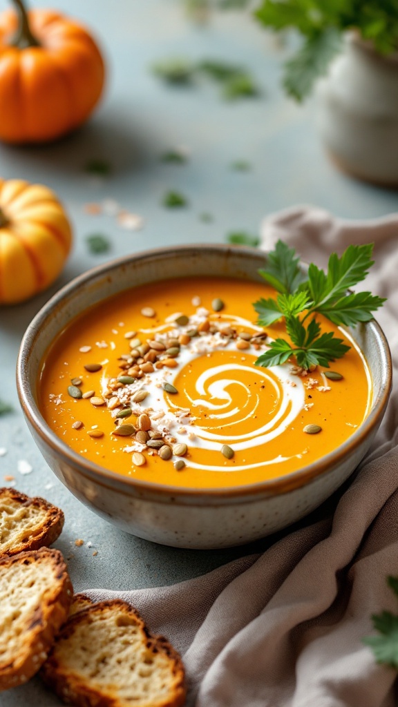
[(46, 501), (45, 498), (40, 498), (40, 496), (30, 498), (30, 496), (26, 496), (25, 493), (16, 491), (16, 489), (0, 487), (0, 501), (2, 499), (9, 499), (9, 501), (18, 503), (20, 506), (32, 507), (40, 511), (40, 513), (45, 513), (46, 518), (45, 522), (39, 527), (39, 531), (29, 537), (26, 542), (17, 542), (13, 544), (12, 548), (8, 549), (2, 548), (0, 542), (0, 557), (4, 555), (12, 557), (23, 551), (38, 550), (40, 547), (47, 547), (55, 542), (57, 537), (61, 534), (62, 528), (64, 527), (64, 513), (60, 508), (57, 508), (57, 506), (52, 506), (52, 503)]

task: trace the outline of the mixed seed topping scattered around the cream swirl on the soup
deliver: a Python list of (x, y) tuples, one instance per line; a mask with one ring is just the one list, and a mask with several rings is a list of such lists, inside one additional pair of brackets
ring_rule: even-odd
[[(220, 298), (212, 300), (212, 312), (201, 306), (200, 298), (193, 298), (192, 301), (194, 300), (197, 303), (197, 310), (191, 317), (184, 312), (176, 312), (175, 315), (167, 317), (164, 325), (154, 329), (131, 330), (124, 334), (125, 353), (118, 358), (120, 373), (115, 378), (101, 378), (101, 390), (98, 391), (100, 395), (96, 390), (84, 390), (84, 380), (81, 377), (72, 378), (71, 385), (67, 388), (68, 395), (76, 402), (79, 399), (87, 399), (93, 407), (103, 407), (109, 411), (115, 423), (115, 428), (110, 434), (115, 438), (126, 438), (126, 441), (128, 438), (129, 444), (125, 447), (125, 451), (132, 452), (132, 464), (135, 467), (146, 464), (147, 455), (158, 455), (165, 462), (171, 460), (177, 472), (186, 468), (187, 462), (183, 457), (188, 458), (189, 464), (189, 440), (195, 439), (191, 409), (178, 409), (178, 406), (173, 404), (173, 411), (170, 413), (180, 425), (178, 433), (187, 435), (187, 444), (176, 439), (171, 433), (171, 429), (163, 421), (163, 411), (144, 407), (145, 400), (150, 395), (146, 386), (154, 380), (158, 381), (157, 388), (160, 388), (166, 397), (177, 396), (178, 399), (177, 387), (167, 378), (173, 375), (173, 369), (180, 366), (181, 353), (186, 347), (194, 355), (208, 354), (213, 349), (222, 349), (226, 346), (253, 354), (268, 348), (266, 332), (255, 326), (251, 331), (247, 331), (248, 327), (244, 329), (241, 323), (235, 321), (235, 317), (224, 315), (223, 310), (226, 305)], [(156, 311), (149, 306), (143, 307), (140, 313), (148, 319), (157, 316)], [(106, 342), (99, 343), (101, 346), (97, 342), (99, 348), (105, 348), (103, 344)], [(91, 346), (81, 346), (79, 351), (88, 354)], [(106, 363), (108, 361), (86, 363), (84, 370), (87, 373), (98, 373), (103, 370)], [(306, 378), (305, 387), (308, 390), (314, 386), (322, 392), (331, 390), (326, 385), (326, 380), (324, 380), (325, 385), (319, 386), (317, 380), (307, 378), (308, 370), (292, 366), (290, 372)], [(158, 378), (152, 378), (154, 373), (157, 373)], [(159, 375), (163, 376), (160, 382)], [(322, 375), (331, 381), (343, 379), (340, 373), (333, 370), (326, 370)], [(290, 382), (290, 385), (296, 384)], [(308, 402), (304, 409), (308, 411), (312, 407), (313, 403)], [(81, 416), (84, 417), (83, 414)], [(84, 427), (84, 422), (76, 420), (72, 427), (79, 430)], [(322, 431), (322, 427), (317, 424), (307, 424), (302, 427), (302, 431), (305, 434), (315, 435)], [(104, 436), (104, 432), (97, 426), (93, 426), (86, 434), (93, 439)], [(228, 444), (220, 445), (220, 455), (224, 457), (224, 464), (227, 462), (234, 464), (232, 460), (235, 452)]]

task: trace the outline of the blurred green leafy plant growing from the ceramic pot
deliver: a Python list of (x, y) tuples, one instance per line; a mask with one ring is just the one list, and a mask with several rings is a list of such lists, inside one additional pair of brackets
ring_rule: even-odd
[(275, 32), (294, 29), (302, 35), (283, 76), (285, 90), (297, 100), (326, 74), (347, 30), (356, 30), (380, 54), (398, 49), (397, 0), (263, 0), (255, 16)]

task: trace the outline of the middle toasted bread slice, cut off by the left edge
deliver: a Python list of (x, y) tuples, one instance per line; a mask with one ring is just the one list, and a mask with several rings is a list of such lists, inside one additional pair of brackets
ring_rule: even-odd
[(43, 547), (0, 558), (0, 691), (38, 672), (67, 619), (72, 596), (58, 550)]

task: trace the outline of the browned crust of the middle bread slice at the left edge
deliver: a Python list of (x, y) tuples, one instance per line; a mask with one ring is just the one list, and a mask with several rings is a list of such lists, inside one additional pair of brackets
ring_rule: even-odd
[[(29, 624), (21, 633), (18, 653), (7, 664), (0, 663), (0, 691), (21, 685), (38, 670), (49, 653), (62, 624), (66, 621), (72, 603), (73, 587), (67, 566), (59, 550), (43, 547), (0, 558), (0, 574), (10, 572), (17, 564), (40, 563), (46, 575), (53, 575), (52, 587), (45, 592)], [(0, 607), (1, 617), (1, 607)]]

